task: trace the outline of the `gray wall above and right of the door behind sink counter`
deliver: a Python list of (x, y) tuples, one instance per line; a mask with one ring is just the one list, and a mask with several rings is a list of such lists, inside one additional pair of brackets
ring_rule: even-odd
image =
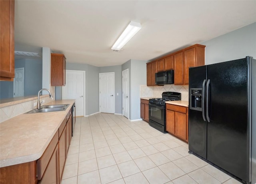
[[(100, 68), (89, 64), (66, 63), (66, 70), (85, 71), (85, 115), (99, 112), (99, 71)], [(56, 93), (56, 98), (61, 90)]]

